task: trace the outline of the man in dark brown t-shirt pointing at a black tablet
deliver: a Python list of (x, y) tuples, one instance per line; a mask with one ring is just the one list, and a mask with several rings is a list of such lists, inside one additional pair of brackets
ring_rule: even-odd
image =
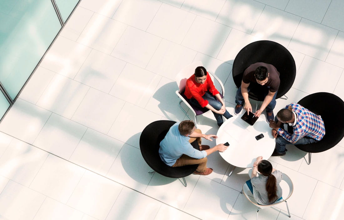
[(254, 113), (257, 117), (266, 108), (267, 121), (274, 119), (273, 109), (276, 106), (276, 95), (279, 88), (279, 72), (271, 64), (254, 63), (244, 71), (241, 86), (235, 96), (234, 113), (239, 114), (241, 109), (247, 112), (252, 111), (251, 103), (248, 99), (248, 91), (252, 91), (259, 99), (264, 99), (261, 107)]

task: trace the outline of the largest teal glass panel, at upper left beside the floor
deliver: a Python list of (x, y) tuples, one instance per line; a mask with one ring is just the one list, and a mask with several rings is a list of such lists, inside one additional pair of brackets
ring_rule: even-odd
[(14, 99), (61, 29), (50, 0), (0, 0), (0, 81)]

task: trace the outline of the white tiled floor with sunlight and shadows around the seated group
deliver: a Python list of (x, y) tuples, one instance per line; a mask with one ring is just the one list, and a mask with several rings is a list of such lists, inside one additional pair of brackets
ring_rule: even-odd
[[(342, 0), (80, 1), (0, 124), (0, 219), (255, 219), (239, 193), (248, 168), (228, 177), (232, 165), (214, 153), (214, 173), (190, 175), (184, 187), (148, 173), (140, 132), (187, 118), (174, 77), (196, 61), (223, 81), (233, 112), (233, 60), (257, 40), (284, 45), (297, 66), (276, 109), (319, 91), (344, 99), (343, 9)], [(199, 122), (216, 134), (210, 112)], [(343, 148), (313, 154), (310, 165), (293, 146), (270, 158), (294, 183), (291, 219), (343, 219)], [(281, 204), (259, 215), (286, 213)]]

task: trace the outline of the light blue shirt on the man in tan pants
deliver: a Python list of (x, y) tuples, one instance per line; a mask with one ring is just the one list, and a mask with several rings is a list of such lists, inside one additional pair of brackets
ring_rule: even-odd
[(178, 130), (179, 123), (172, 125), (165, 138), (160, 142), (159, 154), (161, 160), (168, 166), (173, 166), (183, 154), (201, 159), (207, 152), (198, 151), (189, 143), (190, 137), (181, 135)]

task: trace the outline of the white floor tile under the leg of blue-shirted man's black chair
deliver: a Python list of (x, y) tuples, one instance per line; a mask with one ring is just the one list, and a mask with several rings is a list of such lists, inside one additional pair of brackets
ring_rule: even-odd
[(199, 178), (200, 175), (191, 174), (186, 176), (187, 186), (185, 187), (182, 178), (169, 178), (154, 173), (144, 194), (169, 206), (183, 210)]

